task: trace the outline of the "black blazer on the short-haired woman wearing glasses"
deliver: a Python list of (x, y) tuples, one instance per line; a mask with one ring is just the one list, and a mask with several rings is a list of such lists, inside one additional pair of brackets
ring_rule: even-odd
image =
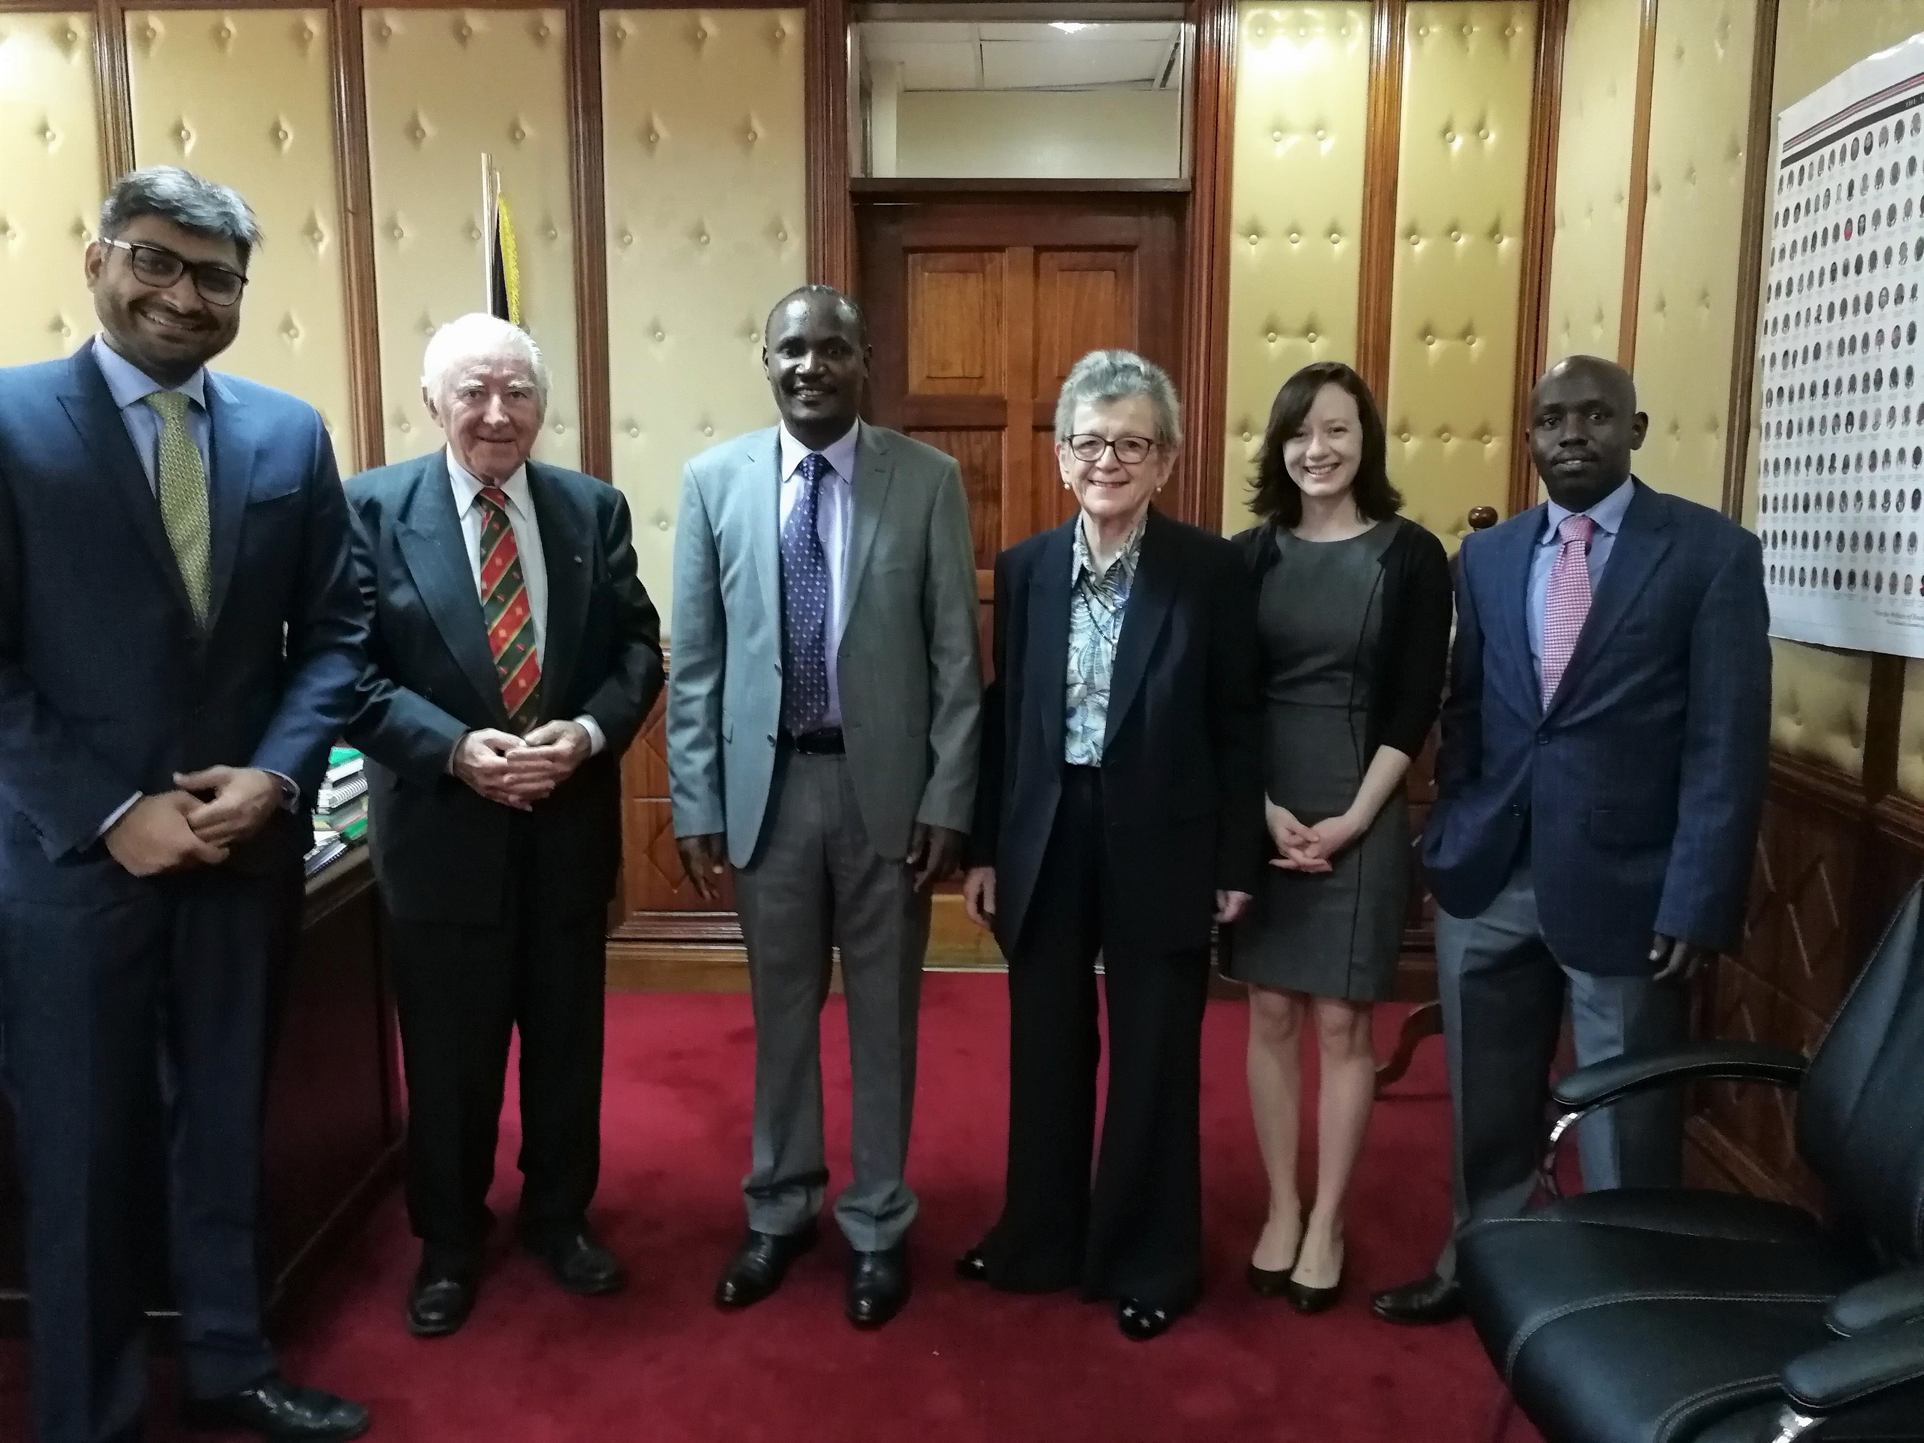
[[(1070, 519), (995, 564), (995, 681), (983, 698), (972, 864), (997, 870), (995, 935), (1022, 937), (1062, 793)], [(1222, 537), (1149, 514), (1116, 643), (1102, 802), (1116, 914), (1143, 947), (1206, 947), (1216, 891), (1262, 873), (1262, 710), (1247, 570)]]

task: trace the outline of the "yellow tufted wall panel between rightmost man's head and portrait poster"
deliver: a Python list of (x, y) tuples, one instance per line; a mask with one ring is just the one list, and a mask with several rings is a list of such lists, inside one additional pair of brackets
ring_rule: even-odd
[(1657, 8), (1651, 171), (1637, 292), (1637, 475), (1705, 506), (1724, 496), (1755, 0)]

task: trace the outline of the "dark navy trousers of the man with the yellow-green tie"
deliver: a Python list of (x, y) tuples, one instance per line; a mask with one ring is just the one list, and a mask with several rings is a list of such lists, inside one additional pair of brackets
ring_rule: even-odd
[(292, 852), (264, 875), (150, 879), (100, 854), (42, 897), (0, 897), (40, 1443), (139, 1433), (162, 1160), (185, 1391), (217, 1397), (273, 1370), (260, 1139), (269, 1012), (298, 920)]

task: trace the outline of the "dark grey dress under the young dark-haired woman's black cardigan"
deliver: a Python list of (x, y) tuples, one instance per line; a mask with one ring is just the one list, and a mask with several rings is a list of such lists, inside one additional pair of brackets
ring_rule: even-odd
[[(1364, 733), (1383, 629), (1383, 550), (1403, 521), (1349, 541), (1278, 533), (1262, 581), (1264, 785), (1312, 825), (1349, 810), (1370, 764)], [(1226, 970), (1258, 987), (1380, 1002), (1395, 995), (1410, 899), (1410, 820), (1401, 789), (1328, 873), (1268, 868), (1237, 924)]]

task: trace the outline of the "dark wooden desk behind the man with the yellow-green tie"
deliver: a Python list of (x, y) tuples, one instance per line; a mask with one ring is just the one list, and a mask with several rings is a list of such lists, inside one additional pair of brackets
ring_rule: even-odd
[[(266, 1226), (267, 1308), (279, 1310), (325, 1264), (398, 1177), (402, 1141), (400, 1047), (381, 960), (381, 906), (367, 848), (358, 847), (308, 881), (300, 949), (287, 975), (273, 1076), (267, 1083)], [(150, 1314), (169, 1316), (162, 1129), (152, 1152), (148, 1220)], [(0, 1331), (25, 1329), (19, 1158), (12, 1108), (0, 1101)]]

